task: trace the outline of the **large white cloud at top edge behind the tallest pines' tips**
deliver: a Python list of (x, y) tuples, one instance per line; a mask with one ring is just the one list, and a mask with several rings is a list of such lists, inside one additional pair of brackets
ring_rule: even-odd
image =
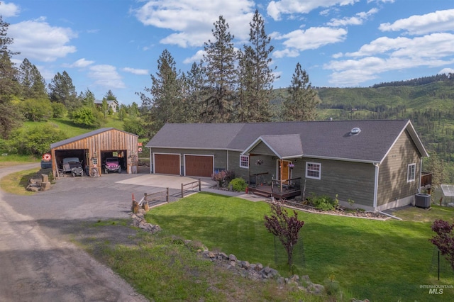
[(223, 16), (235, 38), (248, 38), (248, 24), (253, 17), (254, 2), (250, 0), (155, 0), (147, 1), (133, 14), (146, 26), (175, 31), (160, 43), (180, 47), (201, 46), (213, 38), (213, 23)]

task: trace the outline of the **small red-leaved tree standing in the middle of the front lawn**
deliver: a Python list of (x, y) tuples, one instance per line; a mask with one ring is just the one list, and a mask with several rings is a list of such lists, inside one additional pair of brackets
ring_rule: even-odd
[(297, 211), (293, 211), (293, 216), (289, 216), (279, 203), (270, 203), (271, 215), (265, 215), (265, 227), (268, 232), (279, 238), (279, 241), (287, 251), (287, 263), (289, 269), (293, 264), (293, 249), (298, 242), (299, 230), (303, 227), (304, 221), (298, 220)]

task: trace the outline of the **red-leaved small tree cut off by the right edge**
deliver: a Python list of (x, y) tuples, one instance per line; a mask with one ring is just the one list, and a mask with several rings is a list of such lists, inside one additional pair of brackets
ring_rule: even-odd
[(445, 256), (454, 269), (454, 223), (450, 224), (441, 219), (435, 220), (431, 228), (437, 235), (429, 240), (438, 247), (441, 255)]

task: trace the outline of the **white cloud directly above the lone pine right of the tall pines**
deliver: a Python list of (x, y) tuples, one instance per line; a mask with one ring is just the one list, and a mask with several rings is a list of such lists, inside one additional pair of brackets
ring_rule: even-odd
[(311, 27), (306, 30), (294, 30), (275, 37), (277, 40), (284, 40), (282, 45), (287, 47), (287, 50), (276, 51), (275, 56), (294, 56), (295, 50), (301, 52), (342, 42), (345, 40), (345, 35), (347, 35), (347, 30), (343, 28)]

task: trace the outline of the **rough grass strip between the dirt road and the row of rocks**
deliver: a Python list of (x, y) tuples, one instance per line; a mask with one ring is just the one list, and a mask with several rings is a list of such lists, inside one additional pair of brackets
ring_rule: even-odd
[(125, 240), (119, 235), (131, 233), (125, 223), (99, 220), (85, 225), (74, 241), (150, 301), (326, 301), (324, 296), (282, 289), (275, 281), (253, 281), (219, 269), (199, 257), (195, 244), (188, 247), (166, 231), (136, 232)]

